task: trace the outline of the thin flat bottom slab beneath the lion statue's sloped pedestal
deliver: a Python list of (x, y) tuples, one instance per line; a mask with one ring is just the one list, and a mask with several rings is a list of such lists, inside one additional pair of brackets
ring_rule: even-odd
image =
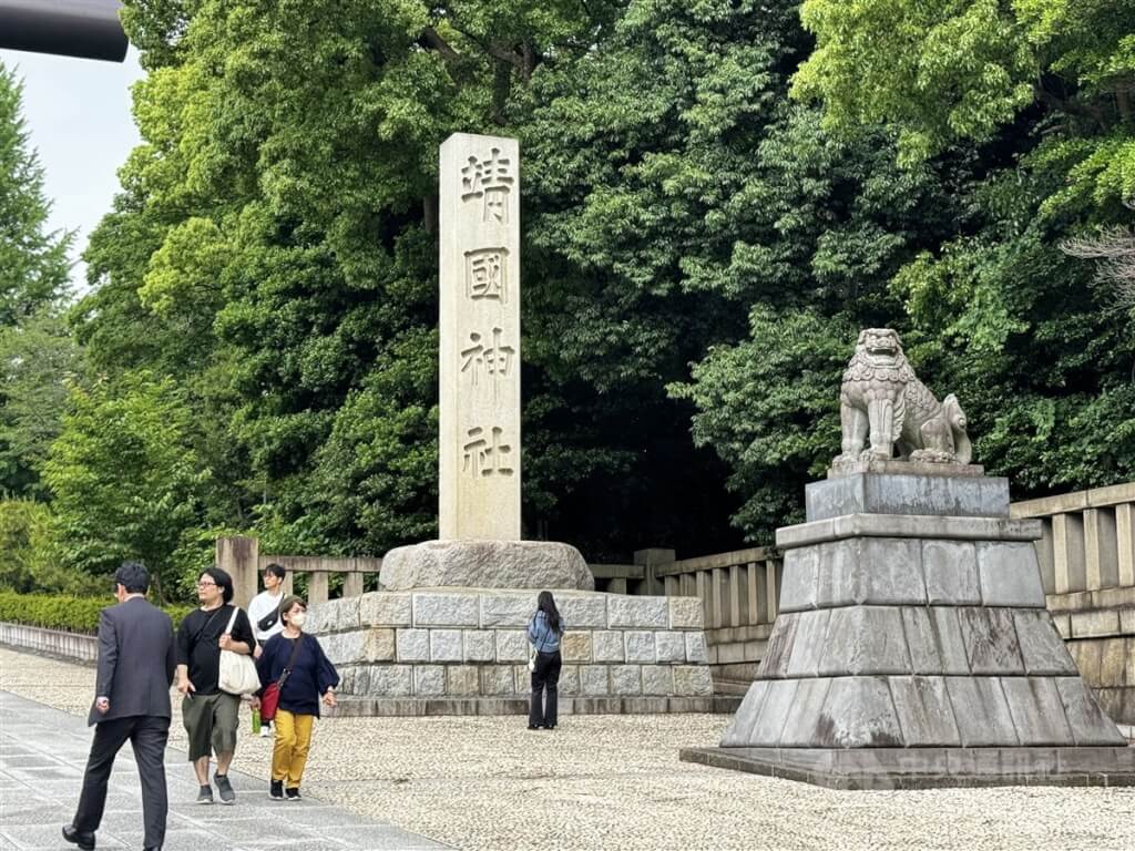
[(827, 789), (1135, 786), (1135, 748), (686, 748), (686, 762)]

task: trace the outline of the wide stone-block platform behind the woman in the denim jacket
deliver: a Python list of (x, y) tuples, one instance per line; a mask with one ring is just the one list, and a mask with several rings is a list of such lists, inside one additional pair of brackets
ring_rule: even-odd
[[(338, 668), (343, 715), (523, 715), (536, 597), (485, 588), (373, 591), (312, 606), (306, 629)], [(555, 597), (568, 627), (563, 715), (715, 709), (698, 598)]]

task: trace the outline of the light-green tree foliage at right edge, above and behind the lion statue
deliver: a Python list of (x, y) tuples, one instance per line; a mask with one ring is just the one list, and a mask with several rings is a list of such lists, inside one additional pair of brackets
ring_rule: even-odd
[(1060, 246), (1130, 221), (1135, 3), (807, 0), (802, 15), (817, 49), (796, 93), (829, 127), (883, 121), (906, 163), (980, 165), (958, 231), (892, 283), (978, 461), (1024, 494), (1129, 480), (1130, 304)]

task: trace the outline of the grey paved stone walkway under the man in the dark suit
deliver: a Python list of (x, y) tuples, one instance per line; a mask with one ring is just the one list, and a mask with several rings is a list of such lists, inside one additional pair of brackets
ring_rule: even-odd
[[(75, 812), (91, 747), (85, 719), (0, 691), (0, 851), (74, 849), (60, 828)], [(185, 753), (167, 751), (166, 851), (345, 851), (451, 848), (369, 821), (312, 798), (271, 801), (261, 780), (230, 772), (233, 807), (193, 803), (197, 786)], [(99, 851), (142, 848), (142, 793), (127, 744), (110, 778)]]

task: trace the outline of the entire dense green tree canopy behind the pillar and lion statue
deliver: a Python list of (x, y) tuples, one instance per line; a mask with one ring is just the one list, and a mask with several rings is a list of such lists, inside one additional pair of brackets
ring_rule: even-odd
[[(522, 144), (527, 536), (595, 561), (770, 542), (839, 450), (868, 325), (1018, 496), (1129, 480), (1132, 300), (1062, 247), (1128, 244), (1132, 12), (127, 0), (143, 143), (74, 339), (50, 310), (0, 335), (53, 353), (5, 354), (0, 460), (33, 495), (47, 470), (92, 572), (144, 553), (176, 579), (219, 530), (434, 534), (437, 146), (462, 130)], [(40, 374), (69, 396), (18, 389)], [(59, 398), (61, 432), (20, 424)]]

